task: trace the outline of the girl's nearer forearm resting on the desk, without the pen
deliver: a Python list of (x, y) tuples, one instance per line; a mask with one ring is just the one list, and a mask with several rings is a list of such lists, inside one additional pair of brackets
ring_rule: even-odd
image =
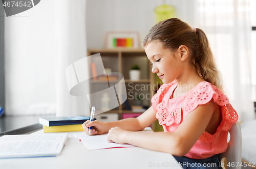
[(176, 156), (186, 154), (181, 139), (171, 132), (146, 133), (125, 131), (122, 139), (127, 144), (148, 150), (170, 153)]

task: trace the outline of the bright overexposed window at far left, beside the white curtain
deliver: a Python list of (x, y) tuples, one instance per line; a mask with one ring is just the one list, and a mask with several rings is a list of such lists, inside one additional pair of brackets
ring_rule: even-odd
[(55, 113), (54, 3), (5, 17), (6, 114)]

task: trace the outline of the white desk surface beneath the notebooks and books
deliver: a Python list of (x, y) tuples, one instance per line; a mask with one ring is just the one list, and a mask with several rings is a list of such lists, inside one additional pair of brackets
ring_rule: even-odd
[[(43, 131), (39, 130), (35, 133), (39, 134)], [(182, 168), (175, 158), (168, 153), (155, 152), (139, 147), (87, 150), (73, 136), (73, 133), (75, 132), (68, 132), (69, 139), (59, 156), (0, 159), (0, 168)], [(77, 131), (76, 133), (83, 133), (83, 131)]]

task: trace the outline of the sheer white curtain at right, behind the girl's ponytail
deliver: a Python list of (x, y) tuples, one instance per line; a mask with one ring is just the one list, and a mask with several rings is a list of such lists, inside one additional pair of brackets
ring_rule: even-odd
[(210, 42), (222, 72), (226, 94), (239, 121), (254, 118), (251, 101), (250, 15), (248, 0), (195, 1), (195, 27)]

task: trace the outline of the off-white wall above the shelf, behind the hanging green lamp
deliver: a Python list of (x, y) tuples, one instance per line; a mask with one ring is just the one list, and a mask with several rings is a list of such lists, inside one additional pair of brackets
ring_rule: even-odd
[[(191, 26), (194, 1), (166, 1), (176, 8), (177, 17)], [(156, 23), (154, 9), (162, 0), (95, 0), (87, 1), (87, 46), (104, 48), (108, 31), (138, 31), (140, 43)]]

